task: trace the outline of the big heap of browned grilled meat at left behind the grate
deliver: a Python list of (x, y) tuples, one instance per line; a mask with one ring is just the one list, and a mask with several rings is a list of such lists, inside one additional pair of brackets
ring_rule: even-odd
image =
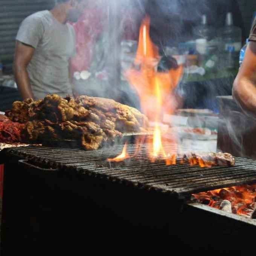
[(6, 116), (9, 122), (18, 123), (13, 142), (75, 139), (87, 150), (114, 142), (122, 133), (145, 131), (148, 126), (147, 117), (135, 108), (88, 96), (73, 99), (52, 94), (39, 101), (16, 101)]

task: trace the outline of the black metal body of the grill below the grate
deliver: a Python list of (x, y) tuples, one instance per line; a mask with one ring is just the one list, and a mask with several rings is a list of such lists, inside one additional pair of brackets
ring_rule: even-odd
[[(38, 168), (33, 164), (30, 168), (17, 166), (26, 157), (15, 155), (15, 151), (6, 149), (1, 154), (5, 162), (2, 252), (12, 251), (14, 243), (26, 251), (31, 251), (33, 244), (34, 250), (55, 248), (65, 252), (64, 243), (71, 250), (81, 251), (88, 241), (94, 249), (99, 245), (104, 250), (117, 248), (122, 243), (126, 248), (127, 242), (129, 247), (131, 242), (138, 242), (143, 252), (155, 245), (158, 250), (171, 246), (186, 253), (193, 250), (205, 255), (211, 250), (222, 255), (244, 251), (244, 246), (230, 245), (253, 244), (254, 236), (241, 234), (255, 233), (255, 220), (201, 204), (184, 204), (184, 200), (174, 200), (175, 194), (120, 183), (94, 172), (90, 175), (64, 166), (47, 170), (43, 169), (45, 163)], [(30, 230), (31, 218), (43, 223), (34, 228), (36, 231)], [(57, 219), (59, 230), (55, 233)], [(65, 220), (72, 227), (66, 222), (63, 225)], [(54, 245), (48, 247), (51, 241)], [(253, 247), (247, 252), (250, 249)]]

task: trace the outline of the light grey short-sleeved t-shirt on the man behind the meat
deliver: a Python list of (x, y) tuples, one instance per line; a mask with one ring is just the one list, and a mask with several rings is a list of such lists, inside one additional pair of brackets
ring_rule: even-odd
[(35, 48), (27, 67), (35, 99), (56, 93), (72, 95), (69, 60), (75, 56), (75, 30), (62, 24), (50, 11), (30, 15), (21, 23), (16, 40)]

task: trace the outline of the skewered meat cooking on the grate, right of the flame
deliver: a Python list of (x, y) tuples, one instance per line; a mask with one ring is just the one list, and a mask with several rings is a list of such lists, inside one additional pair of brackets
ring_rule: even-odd
[(202, 152), (202, 153), (188, 153), (183, 156), (184, 162), (190, 164), (200, 164), (200, 161), (206, 166), (235, 166), (235, 158), (229, 153), (213, 153), (213, 152)]

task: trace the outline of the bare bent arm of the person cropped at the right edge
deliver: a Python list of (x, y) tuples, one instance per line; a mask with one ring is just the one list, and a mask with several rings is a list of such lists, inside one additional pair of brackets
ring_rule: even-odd
[(233, 97), (245, 111), (256, 116), (256, 42), (250, 41), (233, 84)]

